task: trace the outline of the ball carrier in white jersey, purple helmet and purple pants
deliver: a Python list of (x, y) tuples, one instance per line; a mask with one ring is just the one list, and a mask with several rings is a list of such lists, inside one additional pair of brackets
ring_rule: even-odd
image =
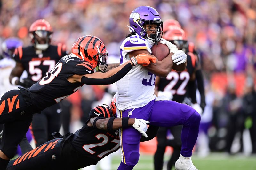
[[(162, 61), (148, 66), (133, 67), (117, 82), (116, 93), (117, 117), (139, 118), (155, 126), (183, 125), (180, 158), (175, 163), (176, 169), (196, 170), (191, 161), (192, 149), (196, 143), (200, 115), (195, 109), (175, 101), (154, 98), (156, 76), (165, 77), (171, 69), (182, 71), (186, 68), (186, 54), (171, 42), (161, 39), (162, 24), (159, 13), (152, 7), (140, 6), (130, 15), (130, 34), (120, 47), (120, 65), (132, 56), (141, 53), (151, 54), (154, 44), (166, 44), (170, 54)], [(122, 160), (118, 170), (130, 170), (139, 160), (141, 134), (133, 128), (120, 129)]]

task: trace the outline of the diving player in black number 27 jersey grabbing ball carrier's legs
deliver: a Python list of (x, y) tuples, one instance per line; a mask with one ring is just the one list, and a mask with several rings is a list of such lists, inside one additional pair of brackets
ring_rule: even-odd
[[(133, 126), (140, 133), (145, 133), (146, 123), (149, 123), (143, 119), (113, 117), (112, 109), (107, 105), (92, 108), (89, 117), (74, 134), (68, 133), (60, 137), (59, 133), (55, 133), (55, 139), (11, 160), (7, 170), (77, 170), (96, 165), (100, 159), (120, 148), (119, 128)], [(156, 131), (149, 133), (149, 137), (142, 136), (141, 141), (151, 140), (156, 136)]]

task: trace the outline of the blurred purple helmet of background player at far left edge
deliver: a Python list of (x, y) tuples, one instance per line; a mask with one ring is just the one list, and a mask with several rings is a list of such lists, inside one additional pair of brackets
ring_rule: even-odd
[(3, 57), (11, 57), (15, 48), (22, 46), (22, 41), (18, 38), (7, 38), (2, 43)]

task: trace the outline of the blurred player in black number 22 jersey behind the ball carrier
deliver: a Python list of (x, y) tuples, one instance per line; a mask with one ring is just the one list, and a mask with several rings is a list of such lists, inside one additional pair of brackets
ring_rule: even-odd
[[(172, 42), (178, 49), (183, 49), (187, 43), (185, 32), (179, 27), (171, 27), (164, 34), (164, 39)], [(184, 51), (186, 52), (186, 51)], [(195, 72), (197, 70), (196, 58), (192, 53), (186, 52), (187, 67), (184, 71), (177, 72), (172, 70), (165, 78), (156, 78), (156, 94), (160, 97), (165, 95), (170, 100), (183, 103), (187, 92), (192, 99), (192, 107), (198, 113), (202, 112), (200, 106), (196, 103)], [(200, 110), (201, 109), (201, 110)], [(167, 131), (170, 129), (174, 137), (173, 140), (167, 140)], [(165, 147), (173, 147), (171, 159), (168, 161), (167, 169), (171, 170), (174, 163), (178, 160), (181, 150), (181, 130), (182, 125), (173, 127), (160, 127), (157, 133), (157, 150), (154, 155), (154, 168), (160, 170), (163, 168), (163, 158)]]

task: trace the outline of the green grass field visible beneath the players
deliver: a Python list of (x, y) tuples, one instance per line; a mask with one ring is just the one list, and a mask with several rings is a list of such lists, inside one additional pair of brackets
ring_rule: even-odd
[[(166, 156), (164, 159), (168, 160), (168, 158), (169, 156)], [(228, 156), (225, 153), (212, 153), (205, 158), (194, 155), (192, 161), (199, 170), (256, 170), (256, 156)], [(117, 169), (119, 163), (120, 157), (114, 156), (113, 170)], [(153, 170), (153, 156), (140, 155), (139, 163), (134, 167), (134, 170)]]

